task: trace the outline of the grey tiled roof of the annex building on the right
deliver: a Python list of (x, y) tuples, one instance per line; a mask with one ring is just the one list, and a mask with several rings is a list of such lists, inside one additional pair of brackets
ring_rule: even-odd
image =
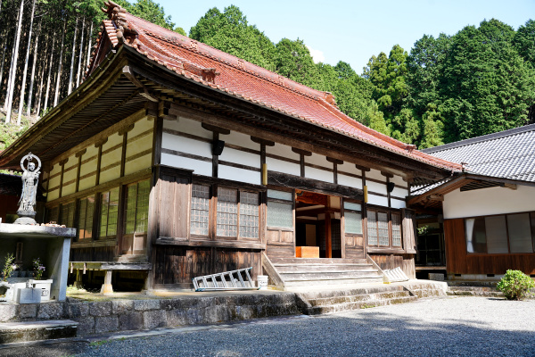
[(535, 124), (422, 150), (479, 175), (535, 182)]

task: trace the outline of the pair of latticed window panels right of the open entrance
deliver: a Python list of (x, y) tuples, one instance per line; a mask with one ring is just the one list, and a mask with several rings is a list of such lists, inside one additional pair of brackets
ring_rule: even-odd
[(401, 214), (367, 210), (367, 244), (400, 248)]

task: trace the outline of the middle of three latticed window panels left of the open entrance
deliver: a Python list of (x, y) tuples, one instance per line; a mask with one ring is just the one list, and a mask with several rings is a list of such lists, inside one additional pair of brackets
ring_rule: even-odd
[(238, 190), (218, 188), (218, 236), (238, 235)]

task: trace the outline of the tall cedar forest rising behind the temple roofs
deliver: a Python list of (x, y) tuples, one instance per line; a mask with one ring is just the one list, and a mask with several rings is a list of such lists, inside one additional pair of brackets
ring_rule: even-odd
[[(115, 0), (187, 35), (152, 0)], [(80, 85), (104, 18), (103, 0), (0, 0), (0, 150)], [(410, 52), (374, 54), (361, 74), (315, 63), (300, 39), (273, 43), (239, 8), (210, 9), (189, 37), (309, 87), (340, 110), (418, 148), (535, 122), (535, 21), (495, 20), (457, 34), (424, 35)], [(386, 50), (386, 49), (385, 49)]]

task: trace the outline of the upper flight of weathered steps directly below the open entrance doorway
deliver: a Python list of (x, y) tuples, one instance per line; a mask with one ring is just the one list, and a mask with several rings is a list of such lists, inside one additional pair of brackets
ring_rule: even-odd
[(366, 259), (272, 258), (284, 289), (383, 282), (383, 275)]

